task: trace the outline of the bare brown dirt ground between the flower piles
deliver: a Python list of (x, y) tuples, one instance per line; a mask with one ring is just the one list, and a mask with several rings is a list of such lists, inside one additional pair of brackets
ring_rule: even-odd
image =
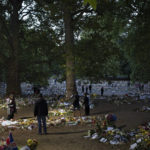
[[(103, 100), (97, 100), (96, 107), (91, 110), (91, 115), (104, 115), (114, 113), (117, 115), (117, 126), (125, 126), (127, 129), (136, 128), (141, 123), (150, 121), (150, 112), (136, 112), (136, 108), (143, 105), (150, 106), (150, 102), (136, 102), (134, 104), (115, 105)], [(6, 110), (0, 110), (0, 118), (6, 117)], [(15, 119), (22, 117), (33, 117), (33, 106), (18, 110)], [(102, 144), (98, 140), (84, 139), (88, 125), (49, 127), (48, 135), (38, 135), (37, 129), (14, 130), (14, 140), (18, 146), (26, 145), (29, 138), (37, 139), (39, 142), (37, 150), (128, 150), (129, 144), (112, 146)], [(0, 137), (7, 137), (8, 131)]]

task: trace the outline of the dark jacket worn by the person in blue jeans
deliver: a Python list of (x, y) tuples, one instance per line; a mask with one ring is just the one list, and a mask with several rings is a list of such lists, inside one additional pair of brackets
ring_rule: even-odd
[(46, 101), (43, 98), (40, 98), (34, 107), (34, 116), (47, 116), (48, 115), (48, 106)]

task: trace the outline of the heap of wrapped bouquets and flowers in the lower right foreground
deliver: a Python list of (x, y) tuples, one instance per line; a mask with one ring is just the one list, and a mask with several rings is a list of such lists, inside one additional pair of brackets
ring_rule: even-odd
[(130, 150), (149, 150), (150, 149), (150, 122), (142, 124), (137, 129), (123, 131), (116, 128), (115, 115), (108, 114), (102, 118), (93, 118), (94, 128), (88, 130), (85, 138), (98, 139), (101, 143), (119, 145), (132, 143)]

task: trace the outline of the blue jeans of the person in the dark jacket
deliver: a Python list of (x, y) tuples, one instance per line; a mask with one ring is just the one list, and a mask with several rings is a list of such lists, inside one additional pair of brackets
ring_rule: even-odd
[(47, 133), (47, 128), (46, 128), (46, 116), (37, 116), (37, 120), (38, 120), (38, 132), (39, 134), (42, 134), (42, 125), (43, 125), (43, 129), (44, 129), (44, 133)]

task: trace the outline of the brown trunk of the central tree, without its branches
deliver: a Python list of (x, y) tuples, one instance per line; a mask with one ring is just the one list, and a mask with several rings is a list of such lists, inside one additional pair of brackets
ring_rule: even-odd
[(64, 7), (65, 51), (66, 51), (66, 98), (76, 94), (75, 58), (73, 54), (74, 34), (72, 16), (69, 8)]

